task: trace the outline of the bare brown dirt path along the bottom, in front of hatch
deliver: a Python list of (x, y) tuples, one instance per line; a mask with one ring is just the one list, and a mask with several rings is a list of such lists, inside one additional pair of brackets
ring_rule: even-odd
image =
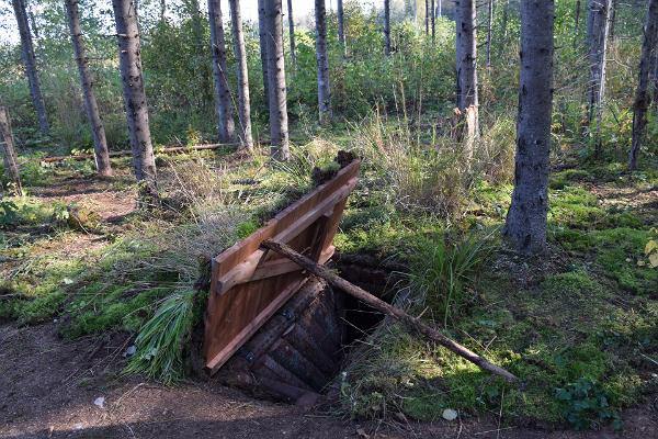
[[(120, 375), (129, 339), (64, 341), (57, 324), (0, 326), (2, 438), (655, 438), (649, 407), (625, 414), (626, 429), (578, 434), (503, 427), (497, 419), (382, 426), (254, 399), (214, 381), (175, 387)], [(103, 407), (94, 401), (104, 397)], [(504, 426), (504, 420), (502, 423)], [(488, 431), (488, 432), (487, 432)]]

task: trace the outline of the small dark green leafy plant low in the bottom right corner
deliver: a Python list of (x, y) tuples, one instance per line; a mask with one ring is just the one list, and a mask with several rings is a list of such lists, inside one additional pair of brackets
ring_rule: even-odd
[(564, 416), (576, 429), (595, 428), (608, 421), (617, 430), (622, 428), (620, 413), (610, 406), (606, 392), (589, 378), (556, 389), (555, 396), (563, 402)]

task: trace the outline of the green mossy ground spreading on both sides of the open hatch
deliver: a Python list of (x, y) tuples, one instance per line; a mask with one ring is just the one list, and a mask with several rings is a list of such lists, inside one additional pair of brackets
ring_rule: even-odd
[[(308, 189), (313, 166), (326, 164), (336, 148), (327, 145), (310, 144), (297, 150), (291, 165), (274, 168), (263, 157), (242, 162), (225, 155), (194, 154), (161, 164), (164, 168), (178, 164), (175, 172), (162, 175), (175, 181), (188, 164), (201, 164), (219, 176), (213, 183), (222, 209), (234, 212), (228, 223), (218, 226), (230, 230), (222, 240), (227, 246)], [(126, 160), (115, 165), (118, 173), (129, 172)], [(38, 178), (26, 184), (29, 191), (44, 181), (57, 187), (78, 176), (80, 165), (67, 166), (35, 171)], [(188, 169), (186, 180), (202, 193), (207, 181), (205, 175), (194, 177), (195, 169)], [(525, 260), (495, 239), (496, 250), (467, 285), (467, 306), (443, 329), (520, 376), (522, 387), (510, 386), (390, 324), (371, 336), (370, 348), (355, 353), (341, 379), (345, 409), (358, 417), (402, 413), (431, 420), (453, 408), (464, 415), (502, 413), (515, 423), (569, 420), (585, 428), (613, 421), (617, 410), (655, 392), (658, 383), (650, 359), (658, 360), (658, 270), (647, 263), (644, 248), (657, 237), (657, 177), (650, 169), (632, 176), (621, 169), (599, 165), (554, 173), (548, 255)], [(460, 204), (458, 214), (445, 221), (400, 209), (390, 185), (379, 184), (385, 177), (381, 168), (364, 164), (336, 238), (339, 250), (406, 261), (415, 245), (428, 237), (495, 233), (504, 222), (508, 183), (485, 178), (462, 199), (442, 194)], [(132, 190), (122, 179), (104, 184), (114, 191)], [(189, 209), (190, 200), (181, 199), (185, 191), (175, 184), (164, 188), (172, 205)], [(637, 193), (644, 198), (635, 198)], [(197, 274), (195, 260), (180, 267), (158, 262), (159, 256), (169, 257), (188, 245), (190, 216), (163, 213), (154, 218), (134, 213), (117, 225), (104, 224), (90, 233), (57, 221), (61, 206), (56, 203), (39, 196), (16, 201), (20, 216), (3, 226), (0, 243), (7, 274), (0, 289), (2, 319), (58, 318), (66, 337), (106, 330), (134, 334), (163, 297), (193, 283)], [(97, 244), (71, 249), (67, 244), (71, 238)], [(47, 246), (54, 251), (44, 251)], [(192, 250), (196, 251), (180, 258), (194, 259)], [(413, 291), (408, 294), (413, 299)], [(434, 320), (433, 309), (415, 306), (410, 311), (442, 326), (442, 320)], [(578, 408), (582, 401), (558, 397), (558, 390), (564, 396), (578, 386), (590, 386), (597, 401), (605, 401), (609, 407), (597, 403)]]

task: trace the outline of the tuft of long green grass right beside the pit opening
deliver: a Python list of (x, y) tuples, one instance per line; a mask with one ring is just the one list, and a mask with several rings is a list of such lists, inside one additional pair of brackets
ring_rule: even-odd
[(410, 260), (410, 286), (422, 303), (447, 326), (473, 300), (468, 285), (491, 251), (491, 235), (468, 234), (451, 239), (446, 235), (422, 237)]

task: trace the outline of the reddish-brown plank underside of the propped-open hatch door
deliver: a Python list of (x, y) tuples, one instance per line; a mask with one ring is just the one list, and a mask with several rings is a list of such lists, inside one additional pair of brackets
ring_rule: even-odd
[(360, 160), (352, 161), (213, 259), (204, 334), (208, 372), (216, 372), (308, 278), (294, 262), (261, 249), (261, 243), (285, 243), (326, 262), (333, 255), (333, 236), (356, 184), (360, 165)]

